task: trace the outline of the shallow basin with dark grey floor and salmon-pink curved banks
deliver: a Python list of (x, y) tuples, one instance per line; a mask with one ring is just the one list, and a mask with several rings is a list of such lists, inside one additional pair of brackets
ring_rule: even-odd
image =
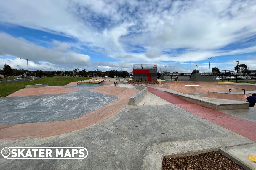
[[(130, 97), (139, 92), (139, 90), (135, 88), (132, 89), (109, 85), (94, 86), (96, 88), (93, 88), (92, 86), (81, 86), (84, 88), (74, 88), (79, 90), (70, 93), (1, 98), (0, 104), (5, 107), (8, 106), (8, 108), (6, 108), (4, 113), (2, 112), (1, 115), (6, 119), (2, 119), (2, 123), (0, 123), (0, 141), (54, 136), (94, 125), (111, 117), (112, 115), (116, 114), (116, 112), (127, 106)], [(46, 87), (41, 88), (47, 89)], [(65, 89), (70, 88), (65, 87)], [(87, 98), (85, 98), (86, 95), (88, 96)], [(102, 101), (96, 101), (96, 97)], [(109, 97), (107, 103), (103, 97)], [(77, 103), (83, 102), (82, 99), (88, 99), (88, 101), (91, 101), (88, 109), (92, 110), (86, 111), (85, 107), (88, 106), (87, 104)], [(63, 100), (66, 100), (71, 104), (64, 105), (64, 108), (64, 106), (61, 105), (65, 103)], [(23, 107), (23, 103), (21, 103), (22, 101), (24, 101), (27, 105), (31, 104), (30, 108), (28, 108), (28, 106)], [(48, 110), (43, 109), (46, 105), (39, 105), (43, 102), (47, 102), (47, 106), (51, 107), (48, 107)], [(94, 102), (95, 107), (93, 106)], [(103, 102), (103, 104), (100, 105), (100, 102)], [(31, 108), (33, 108), (33, 110)], [(39, 110), (41, 111), (39, 112)], [(87, 113), (85, 113), (85, 111)], [(76, 117), (74, 117), (72, 113), (80, 113), (80, 115), (75, 115)], [(56, 114), (59, 114), (59, 117), (55, 118)], [(32, 116), (29, 117), (29, 115)], [(49, 119), (43, 120), (42, 118)]]

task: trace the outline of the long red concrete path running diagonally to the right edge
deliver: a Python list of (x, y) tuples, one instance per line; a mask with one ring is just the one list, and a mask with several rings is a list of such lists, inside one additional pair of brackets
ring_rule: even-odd
[(151, 87), (148, 87), (148, 91), (158, 97), (161, 97), (167, 102), (175, 104), (176, 106), (184, 110), (187, 110), (188, 112), (191, 112), (197, 116), (200, 116), (206, 120), (209, 120), (210, 122), (213, 122), (216, 125), (219, 125), (223, 128), (231, 130), (250, 140), (256, 141), (255, 140), (256, 126), (254, 122), (244, 120), (232, 115), (228, 115), (223, 112), (205, 108), (197, 104), (193, 104), (186, 100), (180, 99), (179, 97), (176, 97), (172, 94), (169, 94), (165, 91), (161, 91)]

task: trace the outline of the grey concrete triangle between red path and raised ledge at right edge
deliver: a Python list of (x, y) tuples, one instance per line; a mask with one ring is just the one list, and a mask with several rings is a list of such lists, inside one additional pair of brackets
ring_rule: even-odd
[(255, 122), (256, 107), (249, 107), (249, 109), (236, 109), (236, 110), (220, 110), (220, 112), (228, 115), (236, 116), (251, 122)]

